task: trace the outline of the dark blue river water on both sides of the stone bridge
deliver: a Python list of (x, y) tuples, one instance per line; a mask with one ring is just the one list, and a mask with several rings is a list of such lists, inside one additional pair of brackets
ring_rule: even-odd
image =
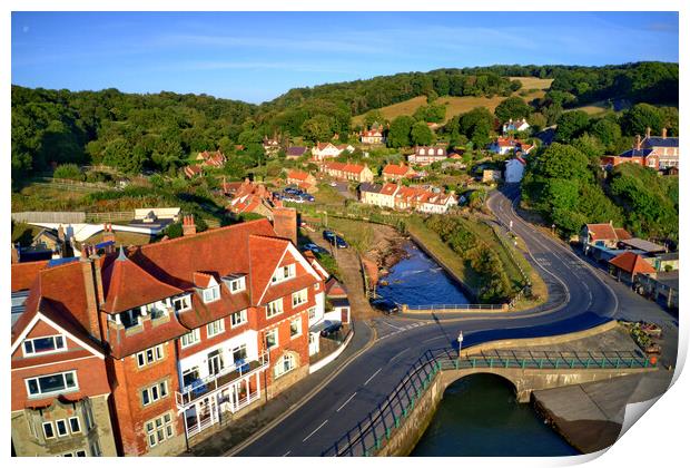
[[(410, 254), (384, 277), (378, 293), (412, 305), (465, 304), (460, 286), (410, 243)], [(451, 384), (412, 456), (566, 456), (579, 452), (545, 426), (529, 404), (515, 401), (511, 384), (475, 374)]]

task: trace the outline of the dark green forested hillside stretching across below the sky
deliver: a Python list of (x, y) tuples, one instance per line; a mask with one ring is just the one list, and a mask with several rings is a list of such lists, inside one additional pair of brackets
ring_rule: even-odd
[[(652, 105), (678, 104), (678, 65), (643, 62), (608, 67), (570, 66), (494, 66), (408, 72), (342, 84), (296, 88), (259, 106), (218, 99), (206, 95), (124, 94), (116, 89), (101, 91), (46, 90), (12, 87), (12, 179), (36, 172), (50, 170), (65, 163), (105, 164), (126, 173), (144, 169), (174, 174), (196, 152), (219, 148), (226, 154), (235, 145), (244, 145), (248, 163), (260, 160), (264, 135), (302, 138), (305, 142), (329, 140), (334, 134), (342, 142), (352, 137), (352, 116), (383, 106), (425, 96), (428, 106), (420, 108), (413, 120), (400, 121), (397, 146), (430, 142), (435, 138), (415, 121), (441, 121), (443, 115), (434, 100), (438, 96), (511, 96), (521, 87), (509, 77), (553, 78), (543, 98), (513, 101), (496, 107), (496, 116), (509, 116), (526, 108), (533, 127), (558, 121), (568, 129), (559, 138), (568, 142), (582, 136), (590, 120), (564, 109), (593, 100), (643, 100)], [(642, 106), (642, 105), (641, 105)], [(629, 119), (615, 118), (622, 135), (639, 133), (652, 121), (652, 128), (673, 125), (678, 111), (638, 108)], [(486, 109), (483, 109), (486, 110)], [(450, 143), (475, 145), (487, 142), (494, 130), (490, 110), (472, 111), (450, 120), (440, 131)], [(654, 115), (651, 115), (654, 114)], [(651, 120), (650, 120), (651, 119)], [(371, 119), (369, 119), (371, 120)], [(393, 124), (393, 123), (392, 123)], [(597, 131), (607, 135), (615, 128), (603, 123)], [(676, 124), (677, 127), (677, 124)], [(592, 128), (592, 130), (594, 130)], [(610, 131), (609, 131), (610, 130)], [(677, 134), (671, 128), (670, 134)], [(609, 138), (610, 139), (610, 138)], [(608, 140), (607, 140), (608, 142)], [(623, 140), (628, 145), (628, 140)], [(608, 145), (608, 143), (607, 143)], [(395, 145), (394, 145), (395, 146)], [(615, 145), (608, 145), (613, 147)]]

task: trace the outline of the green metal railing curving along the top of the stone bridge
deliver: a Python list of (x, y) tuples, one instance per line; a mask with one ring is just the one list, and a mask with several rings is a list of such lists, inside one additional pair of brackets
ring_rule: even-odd
[(366, 418), (322, 452), (326, 457), (376, 455), (404, 423), (425, 391), (442, 371), (464, 369), (643, 369), (654, 367), (647, 355), (633, 351), (514, 351), (493, 350), (457, 358), (445, 348), (427, 350), (410, 368), (394, 390)]

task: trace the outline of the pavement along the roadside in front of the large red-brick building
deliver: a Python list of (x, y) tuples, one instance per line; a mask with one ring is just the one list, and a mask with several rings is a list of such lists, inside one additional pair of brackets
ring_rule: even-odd
[(355, 334), (352, 341), (335, 361), (302, 379), (243, 418), (231, 421), (229, 426), (218, 429), (205, 440), (190, 447), (189, 451), (183, 456), (230, 456), (277, 426), (293, 411), (306, 403), (342, 368), (373, 343), (375, 333), (368, 323), (355, 320), (353, 321), (353, 329)]

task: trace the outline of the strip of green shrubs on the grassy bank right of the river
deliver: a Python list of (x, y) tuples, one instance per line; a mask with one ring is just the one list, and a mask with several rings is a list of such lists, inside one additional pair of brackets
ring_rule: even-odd
[(499, 255), (457, 217), (432, 215), (424, 224), (434, 231), (480, 276), (479, 300), (483, 303), (509, 301), (510, 280)]

